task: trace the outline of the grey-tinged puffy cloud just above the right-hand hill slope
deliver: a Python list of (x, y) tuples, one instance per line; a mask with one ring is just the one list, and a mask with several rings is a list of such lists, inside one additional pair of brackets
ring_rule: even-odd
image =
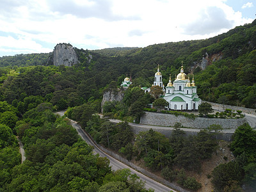
[(200, 17), (184, 26), (186, 35), (206, 35), (216, 33), (221, 29), (229, 29), (234, 21), (228, 20), (225, 12), (216, 6), (211, 6), (200, 11)]

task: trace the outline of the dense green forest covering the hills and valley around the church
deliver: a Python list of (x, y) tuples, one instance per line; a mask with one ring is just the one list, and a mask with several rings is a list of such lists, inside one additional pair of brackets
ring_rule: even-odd
[[(256, 108), (255, 47), (256, 20), (207, 40), (76, 49), (80, 63), (72, 67), (49, 65), (50, 53), (0, 58), (0, 191), (147, 191), (129, 170), (112, 172), (108, 159), (93, 155), (68, 120), (54, 115), (62, 109), (100, 145), (141, 160), (150, 170), (162, 170), (166, 180), (186, 189), (200, 189), (201, 184), (186, 172), (200, 172), (202, 162), (216, 151), (218, 141), (210, 132), (186, 138), (177, 125), (170, 138), (152, 130), (134, 135), (126, 122), (138, 120), (143, 108), (156, 102), (140, 86), (152, 84), (157, 65), (166, 84), (169, 74), (179, 74), (181, 61), (186, 74), (195, 74), (203, 100)], [(82, 52), (92, 54), (92, 61)], [(221, 59), (201, 70), (195, 62), (205, 52), (209, 58), (220, 54)], [(107, 102), (106, 118), (99, 118), (95, 113), (100, 113), (103, 93), (118, 91), (127, 75), (132, 76), (132, 86), (123, 90), (124, 99)], [(124, 123), (114, 125), (108, 118)], [(255, 134), (246, 124), (237, 129), (230, 143), (236, 160), (216, 166), (211, 173), (216, 191), (241, 191), (243, 185), (248, 191), (256, 188)], [(22, 164), (16, 136), (26, 151)]]

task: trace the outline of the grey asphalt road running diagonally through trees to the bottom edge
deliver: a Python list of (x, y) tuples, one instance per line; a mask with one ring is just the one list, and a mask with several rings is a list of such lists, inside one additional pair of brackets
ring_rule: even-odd
[[(64, 112), (60, 111), (57, 112), (59, 115), (63, 115)], [(109, 159), (109, 165), (111, 166), (112, 170), (119, 170), (119, 169), (124, 169), (124, 168), (129, 168), (131, 170), (132, 174), (136, 174), (140, 177), (141, 180), (145, 181), (145, 187), (147, 189), (152, 188), (154, 189), (156, 192), (169, 192), (169, 191), (174, 191), (171, 188), (168, 188), (166, 186), (164, 186), (163, 184), (156, 182), (156, 180), (150, 179), (149, 177), (147, 177), (146, 175), (143, 175), (140, 172), (137, 172), (136, 170), (132, 169), (131, 167), (127, 166), (124, 163), (121, 163), (120, 161), (116, 160), (115, 158), (109, 156), (108, 154), (106, 154), (105, 152), (103, 152), (102, 150), (100, 150), (100, 148), (90, 139), (90, 136), (88, 136), (88, 134), (86, 134), (86, 132), (81, 128), (80, 125), (77, 124), (77, 122), (75, 122), (74, 120), (70, 120), (72, 126), (76, 129), (76, 131), (78, 132), (79, 136), (81, 136), (81, 138), (86, 141), (86, 143), (88, 143), (89, 145), (92, 145), (94, 147), (93, 151), (97, 154), (99, 154), (101, 157), (107, 157)]]

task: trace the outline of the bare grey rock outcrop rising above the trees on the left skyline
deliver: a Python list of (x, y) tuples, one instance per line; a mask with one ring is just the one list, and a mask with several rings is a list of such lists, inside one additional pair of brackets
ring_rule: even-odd
[(68, 67), (79, 63), (76, 51), (70, 44), (57, 44), (52, 53), (52, 61), (55, 66), (65, 65)]

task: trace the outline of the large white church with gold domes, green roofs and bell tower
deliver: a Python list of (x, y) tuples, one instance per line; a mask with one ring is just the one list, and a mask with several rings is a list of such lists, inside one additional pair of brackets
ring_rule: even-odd
[[(168, 102), (168, 110), (198, 110), (201, 104), (201, 99), (196, 93), (194, 77), (190, 81), (189, 76), (184, 73), (183, 63), (180, 73), (175, 77), (172, 83), (170, 76), (169, 83), (164, 87), (162, 74), (159, 72), (159, 65), (155, 74), (154, 86), (158, 85), (163, 88), (164, 95), (162, 96)], [(150, 92), (150, 88), (143, 87), (145, 92)]]

